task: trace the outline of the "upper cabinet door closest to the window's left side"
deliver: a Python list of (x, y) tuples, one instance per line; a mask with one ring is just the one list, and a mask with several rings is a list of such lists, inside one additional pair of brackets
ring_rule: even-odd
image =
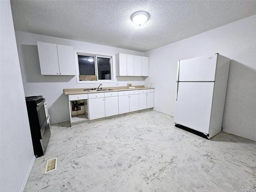
[(57, 45), (60, 75), (76, 75), (74, 48)]

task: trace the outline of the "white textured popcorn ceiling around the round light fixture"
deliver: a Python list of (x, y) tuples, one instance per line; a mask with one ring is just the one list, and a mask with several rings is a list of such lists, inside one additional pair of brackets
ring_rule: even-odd
[[(256, 14), (256, 1), (11, 1), (15, 30), (148, 51)], [(147, 11), (141, 27), (131, 14)]]

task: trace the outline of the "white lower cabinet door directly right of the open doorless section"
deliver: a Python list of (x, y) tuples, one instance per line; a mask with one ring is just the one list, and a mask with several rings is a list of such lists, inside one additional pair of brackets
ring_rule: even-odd
[(89, 99), (89, 118), (98, 119), (105, 117), (104, 98)]

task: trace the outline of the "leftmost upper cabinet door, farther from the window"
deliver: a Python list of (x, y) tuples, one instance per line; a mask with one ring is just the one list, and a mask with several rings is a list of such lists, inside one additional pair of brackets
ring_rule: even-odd
[(42, 75), (59, 75), (57, 45), (37, 42), (40, 69)]

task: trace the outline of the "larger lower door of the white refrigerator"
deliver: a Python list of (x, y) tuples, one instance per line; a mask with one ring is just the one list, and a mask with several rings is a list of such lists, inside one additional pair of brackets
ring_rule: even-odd
[(214, 82), (179, 82), (175, 122), (208, 134)]

